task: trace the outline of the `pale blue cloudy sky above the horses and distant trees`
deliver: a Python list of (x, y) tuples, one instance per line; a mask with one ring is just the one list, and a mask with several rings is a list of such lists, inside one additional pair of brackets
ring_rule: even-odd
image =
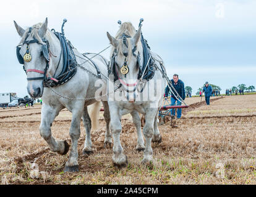
[[(256, 1), (254, 0), (113, 0), (113, 1), (3, 1), (0, 7), (0, 92), (27, 94), (27, 79), (15, 47), (23, 28), (48, 17), (48, 28), (61, 31), (80, 52), (100, 52), (109, 46), (117, 20), (144, 19), (142, 32), (159, 54), (169, 78), (179, 74), (192, 94), (205, 81), (224, 92), (238, 84), (256, 87)], [(103, 55), (109, 58), (109, 50)]]

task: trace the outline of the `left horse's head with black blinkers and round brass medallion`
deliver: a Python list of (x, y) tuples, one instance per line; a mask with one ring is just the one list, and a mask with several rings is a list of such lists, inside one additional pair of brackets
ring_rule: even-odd
[[(52, 32), (48, 30), (48, 19), (45, 22), (37, 23), (27, 30), (24, 30), (14, 21), (17, 33), (22, 38), (17, 46), (17, 58), (23, 65), (27, 74), (27, 91), (30, 97), (39, 98), (43, 95), (43, 82), (48, 76), (52, 63), (50, 63), (50, 45)], [(51, 43), (50, 43), (51, 42)], [(51, 51), (56, 52), (58, 47), (52, 47)]]

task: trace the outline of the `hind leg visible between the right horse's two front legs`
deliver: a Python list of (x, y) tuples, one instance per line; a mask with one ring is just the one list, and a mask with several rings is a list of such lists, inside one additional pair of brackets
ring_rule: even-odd
[(142, 128), (141, 128), (141, 123), (140, 123), (140, 115), (138, 111), (132, 111), (130, 113), (132, 115), (132, 121), (135, 124), (136, 131), (137, 131), (137, 145), (136, 145), (136, 150), (137, 151), (143, 151), (145, 150), (145, 145), (144, 145), (144, 140), (142, 137)]

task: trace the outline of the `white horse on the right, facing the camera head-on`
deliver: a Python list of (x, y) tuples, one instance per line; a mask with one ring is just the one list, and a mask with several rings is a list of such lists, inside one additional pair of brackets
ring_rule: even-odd
[[(113, 60), (113, 70), (116, 71), (117, 81), (122, 84), (122, 93), (124, 95), (124, 99), (122, 100), (119, 98), (119, 100), (116, 99), (119, 93), (114, 94), (114, 97), (108, 97), (111, 131), (114, 139), (114, 155), (112, 159), (114, 166), (117, 167), (127, 165), (127, 156), (124, 155), (120, 143), (120, 134), (122, 131), (120, 119), (122, 115), (134, 110), (145, 115), (143, 134), (146, 140), (146, 147), (142, 163), (147, 164), (153, 161), (151, 140), (153, 142), (161, 142), (161, 135), (158, 130), (158, 110), (161, 108), (164, 87), (167, 84), (166, 79), (163, 78), (160, 72), (161, 65), (163, 66), (163, 60), (150, 51), (151, 56), (155, 60), (155, 75), (148, 82), (147, 80), (141, 80), (142, 78), (138, 79), (139, 66), (143, 63), (143, 49), (140, 34), (141, 26), (136, 31), (132, 23), (129, 22), (121, 24), (115, 38), (107, 32), (110, 44), (113, 46), (110, 56)], [(138, 54), (140, 54), (140, 58), (138, 58)], [(142, 84), (146, 85), (143, 87), (143, 91), (142, 89), (139, 90), (139, 85)]]

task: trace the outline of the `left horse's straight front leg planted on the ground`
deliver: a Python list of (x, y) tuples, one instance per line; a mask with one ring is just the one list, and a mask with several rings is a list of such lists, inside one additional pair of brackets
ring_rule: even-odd
[(77, 143), (80, 137), (80, 121), (84, 111), (84, 106), (83, 102), (77, 102), (74, 103), (74, 105), (76, 108), (74, 108), (72, 111), (72, 121), (69, 129), (69, 135), (72, 140), (72, 148), (69, 153), (69, 160), (65, 164), (64, 172), (79, 172), (79, 164), (77, 162)]

